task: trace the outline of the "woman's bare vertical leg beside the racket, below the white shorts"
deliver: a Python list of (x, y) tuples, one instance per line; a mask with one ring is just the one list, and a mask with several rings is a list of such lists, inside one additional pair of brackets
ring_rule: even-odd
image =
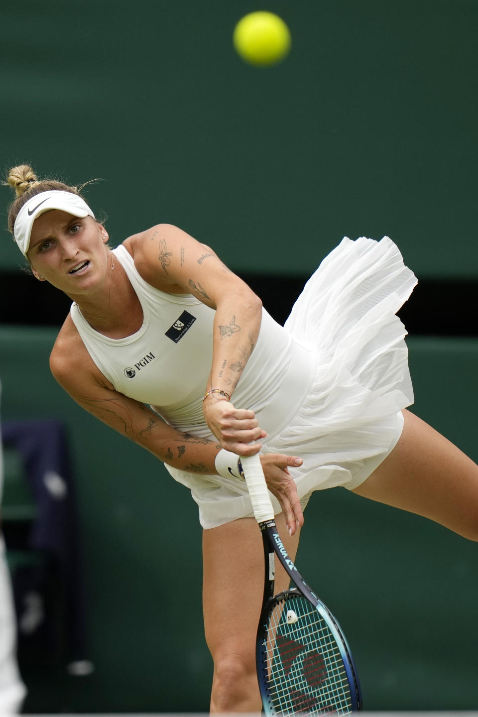
[[(279, 535), (292, 560), (292, 538), (282, 513)], [(255, 645), (264, 590), (262, 537), (254, 518), (241, 518), (203, 532), (203, 609), (206, 642), (214, 660), (211, 713), (261, 711)], [(289, 580), (276, 561), (276, 592)]]

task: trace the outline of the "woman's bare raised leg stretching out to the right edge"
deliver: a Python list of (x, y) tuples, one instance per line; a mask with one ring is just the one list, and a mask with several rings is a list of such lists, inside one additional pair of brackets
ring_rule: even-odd
[(478, 465), (409, 411), (396, 447), (353, 490), (478, 540)]

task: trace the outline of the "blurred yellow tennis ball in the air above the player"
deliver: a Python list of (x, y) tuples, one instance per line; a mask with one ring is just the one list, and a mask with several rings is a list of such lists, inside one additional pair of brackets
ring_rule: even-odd
[(232, 37), (236, 52), (251, 65), (274, 65), (290, 50), (290, 32), (284, 20), (272, 12), (244, 15)]

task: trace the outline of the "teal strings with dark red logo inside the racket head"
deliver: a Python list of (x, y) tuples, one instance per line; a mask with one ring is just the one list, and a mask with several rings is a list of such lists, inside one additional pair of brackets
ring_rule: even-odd
[[(297, 622), (287, 623), (285, 607)], [(348, 715), (351, 695), (340, 649), (326, 620), (301, 596), (279, 602), (267, 624), (264, 670), (273, 713)]]

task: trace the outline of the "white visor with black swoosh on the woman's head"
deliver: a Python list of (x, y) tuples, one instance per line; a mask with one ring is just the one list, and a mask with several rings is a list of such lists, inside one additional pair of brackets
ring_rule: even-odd
[(33, 222), (40, 214), (49, 212), (50, 209), (61, 209), (62, 212), (72, 214), (73, 217), (90, 216), (95, 219), (95, 214), (86, 201), (70, 191), (51, 189), (35, 194), (21, 207), (14, 224), (14, 239), (24, 256), (27, 256), (30, 246)]

